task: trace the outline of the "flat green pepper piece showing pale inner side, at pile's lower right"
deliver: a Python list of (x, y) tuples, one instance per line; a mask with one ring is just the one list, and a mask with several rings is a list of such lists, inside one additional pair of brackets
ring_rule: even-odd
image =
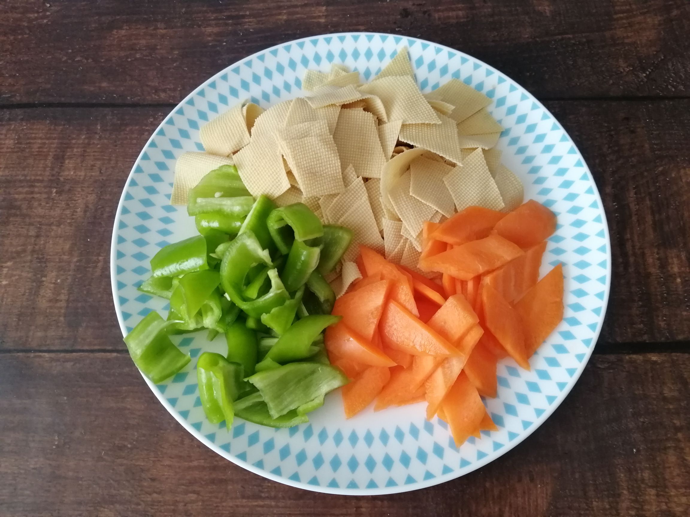
[(257, 372), (247, 380), (259, 389), (273, 418), (298, 407), (304, 410), (316, 398), (348, 383), (339, 368), (319, 363), (291, 363)]

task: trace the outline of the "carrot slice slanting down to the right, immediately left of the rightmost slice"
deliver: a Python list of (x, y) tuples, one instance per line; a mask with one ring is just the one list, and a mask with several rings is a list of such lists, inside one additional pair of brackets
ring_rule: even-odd
[(518, 365), (529, 370), (524, 345), (524, 323), (520, 314), (491, 285), (484, 285), (482, 289), (482, 305), (486, 328)]

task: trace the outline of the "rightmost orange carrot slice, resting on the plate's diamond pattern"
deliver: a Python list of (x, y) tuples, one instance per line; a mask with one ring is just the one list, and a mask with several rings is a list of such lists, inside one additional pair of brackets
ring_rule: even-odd
[(563, 319), (563, 266), (557, 265), (538, 281), (515, 304), (515, 311), (524, 323), (529, 357)]

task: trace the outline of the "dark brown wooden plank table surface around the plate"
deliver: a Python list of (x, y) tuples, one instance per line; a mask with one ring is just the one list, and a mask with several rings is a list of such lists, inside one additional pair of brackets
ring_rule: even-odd
[[(187, 92), (275, 43), (449, 45), (524, 85), (584, 154), (613, 288), (582, 378), (538, 431), (444, 485), (316, 494), (175, 422), (110, 292), (119, 194)], [(690, 514), (690, 4), (684, 0), (0, 3), (0, 515)]]

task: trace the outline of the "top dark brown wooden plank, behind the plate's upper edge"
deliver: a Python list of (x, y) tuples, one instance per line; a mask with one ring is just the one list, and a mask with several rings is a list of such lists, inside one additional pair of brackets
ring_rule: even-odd
[(682, 0), (6, 0), (0, 12), (0, 103), (177, 103), (249, 54), (344, 31), (448, 45), (540, 98), (690, 92)]

